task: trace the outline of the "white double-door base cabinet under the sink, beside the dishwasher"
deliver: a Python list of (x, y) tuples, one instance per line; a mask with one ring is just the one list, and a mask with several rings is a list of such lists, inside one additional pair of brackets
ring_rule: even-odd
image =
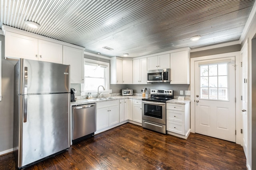
[(119, 123), (119, 100), (97, 103), (96, 130)]

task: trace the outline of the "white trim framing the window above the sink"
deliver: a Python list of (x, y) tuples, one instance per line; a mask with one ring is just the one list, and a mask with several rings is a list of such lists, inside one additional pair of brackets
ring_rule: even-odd
[[(107, 87), (104, 87), (105, 90), (103, 91), (102, 88), (99, 89), (100, 92), (102, 92), (102, 94), (108, 94), (108, 93), (112, 93), (112, 90), (110, 90), (110, 63), (106, 63), (103, 61), (97, 61), (97, 60), (92, 60), (92, 59), (86, 59), (84, 58), (84, 64), (85, 63), (94, 63), (94, 64), (99, 64), (102, 66), (106, 67), (106, 84)], [(84, 79), (85, 80), (85, 79)], [(97, 90), (84, 90), (84, 83), (81, 83), (81, 96), (87, 95), (88, 92), (97, 92)]]

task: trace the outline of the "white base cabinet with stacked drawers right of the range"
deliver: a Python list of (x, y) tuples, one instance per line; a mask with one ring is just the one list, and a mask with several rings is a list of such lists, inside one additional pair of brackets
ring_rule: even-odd
[(187, 138), (190, 133), (190, 103), (166, 104), (166, 130), (168, 134)]

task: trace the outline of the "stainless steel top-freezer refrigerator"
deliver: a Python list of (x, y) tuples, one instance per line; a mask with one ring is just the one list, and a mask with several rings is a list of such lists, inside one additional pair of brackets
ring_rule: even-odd
[(14, 74), (14, 158), (25, 168), (70, 147), (70, 66), (20, 59)]

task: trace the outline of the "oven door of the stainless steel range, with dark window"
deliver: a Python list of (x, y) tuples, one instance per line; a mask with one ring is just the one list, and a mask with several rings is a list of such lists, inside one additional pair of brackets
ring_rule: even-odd
[(165, 103), (142, 101), (142, 119), (166, 125)]

